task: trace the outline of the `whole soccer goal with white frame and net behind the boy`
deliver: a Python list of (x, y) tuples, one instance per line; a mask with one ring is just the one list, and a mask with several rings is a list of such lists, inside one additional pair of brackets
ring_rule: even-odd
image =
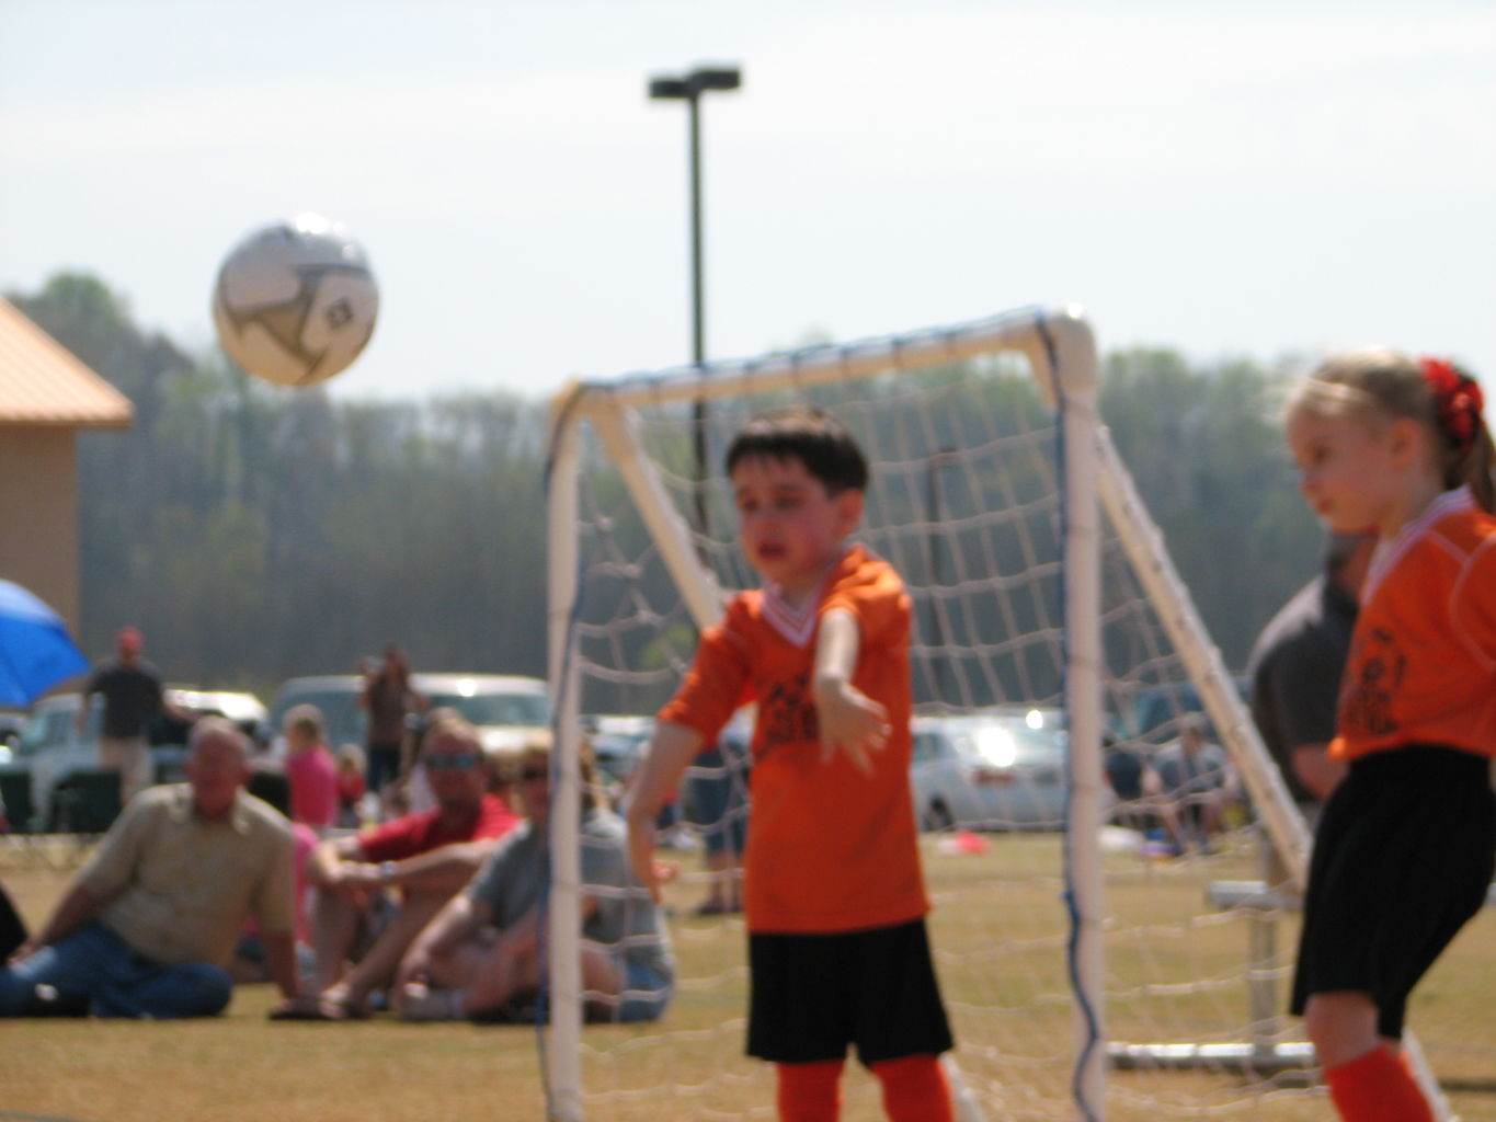
[[(960, 1118), (1322, 1116), (1312, 1056), (1278, 1016), (1306, 830), (1098, 420), (1097, 377), (1079, 311), (1026, 310), (557, 398), (552, 1118), (773, 1118), (772, 1073), (742, 1055), (741, 917), (694, 914), (733, 874), (703, 844), (721, 823), (688, 793), (661, 833), (679, 871), (666, 1017), (583, 1028), (567, 934), (586, 892), (583, 730), (654, 714), (724, 595), (752, 580), (721, 455), (790, 401), (832, 411), (866, 450), (859, 537), (914, 604), (911, 782)], [(1221, 766), (1159, 790), (1143, 764), (1179, 751), (1195, 711)], [(732, 758), (712, 766), (751, 791)], [(1267, 868), (1263, 892), (1231, 889)], [(881, 1118), (851, 1067), (844, 1118)]]

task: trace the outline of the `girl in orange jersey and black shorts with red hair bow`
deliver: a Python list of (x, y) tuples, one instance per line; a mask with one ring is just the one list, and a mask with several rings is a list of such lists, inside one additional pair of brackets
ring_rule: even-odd
[(1346, 1122), (1432, 1122), (1402, 1061), (1408, 995), (1496, 865), (1496, 479), (1481, 390), (1370, 349), (1321, 364), (1285, 414), (1333, 531), (1378, 534), (1315, 835), (1293, 1011)]

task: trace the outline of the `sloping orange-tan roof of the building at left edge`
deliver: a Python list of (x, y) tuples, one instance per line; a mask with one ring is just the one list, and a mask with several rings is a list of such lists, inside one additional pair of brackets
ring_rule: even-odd
[(0, 425), (124, 426), (130, 399), (0, 296)]

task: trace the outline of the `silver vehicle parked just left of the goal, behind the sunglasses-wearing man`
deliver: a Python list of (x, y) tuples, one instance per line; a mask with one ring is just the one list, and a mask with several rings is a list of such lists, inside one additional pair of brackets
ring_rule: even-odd
[[(551, 727), (551, 699), (539, 678), (417, 673), (410, 685), (432, 709), (456, 709), (477, 726), (483, 748), (491, 752), (516, 751), (536, 729)], [(368, 715), (359, 706), (362, 690), (364, 679), (358, 675), (290, 678), (271, 703), (271, 727), (278, 738), (287, 709), (314, 705), (322, 711), (329, 747), (364, 745)]]

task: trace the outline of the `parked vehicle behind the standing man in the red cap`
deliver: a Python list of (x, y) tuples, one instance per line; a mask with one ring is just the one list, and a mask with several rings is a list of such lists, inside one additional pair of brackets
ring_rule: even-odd
[[(166, 697), (181, 709), (227, 717), (251, 738), (262, 732), (265, 706), (254, 694), (221, 690), (186, 690), (169, 687)], [(81, 782), (84, 773), (99, 767), (99, 729), (103, 699), (90, 699), (88, 718), (78, 730), (81, 694), (43, 697), (31, 709), (30, 720), (15, 748), (13, 767), (30, 775), (33, 821), (46, 829), (76, 826), (67, 821), (66, 800), (58, 794)], [(188, 724), (168, 714), (159, 714), (147, 729), (153, 782), (180, 782), (186, 778)]]

